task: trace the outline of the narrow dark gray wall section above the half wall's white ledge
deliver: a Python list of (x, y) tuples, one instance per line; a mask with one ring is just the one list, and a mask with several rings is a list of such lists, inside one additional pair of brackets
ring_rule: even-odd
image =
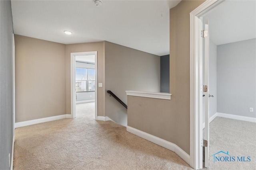
[(160, 92), (170, 92), (170, 55), (160, 58)]

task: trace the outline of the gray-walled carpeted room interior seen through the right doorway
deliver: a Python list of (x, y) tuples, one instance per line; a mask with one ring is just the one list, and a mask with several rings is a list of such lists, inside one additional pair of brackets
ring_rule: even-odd
[[(204, 16), (210, 38), (208, 89), (213, 95), (208, 108), (209, 166), (214, 169), (222, 168), (214, 155), (220, 151), (228, 155), (218, 156), (246, 156), (245, 161), (256, 157), (255, 143), (247, 142), (256, 138), (255, 6), (255, 1), (225, 1)], [(226, 165), (250, 169), (246, 162), (230, 160)]]

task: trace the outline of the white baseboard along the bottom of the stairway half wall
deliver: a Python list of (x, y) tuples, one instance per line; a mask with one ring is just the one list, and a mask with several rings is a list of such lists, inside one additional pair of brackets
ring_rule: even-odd
[(189, 154), (187, 154), (184, 150), (182, 150), (180, 147), (178, 147), (176, 144), (168, 142), (164, 139), (161, 139), (159, 137), (155, 137), (153, 135), (150, 135), (148, 133), (145, 133), (143, 131), (140, 131), (138, 129), (135, 129), (133, 127), (127, 126), (126, 127), (126, 131), (137, 135), (139, 137), (142, 137), (152, 143), (155, 143), (156, 145), (160, 145), (161, 147), (164, 147), (166, 149), (172, 150), (173, 152), (175, 152), (176, 154), (178, 154), (178, 156), (180, 156), (183, 160), (185, 160), (188, 164), (190, 164), (190, 156)]

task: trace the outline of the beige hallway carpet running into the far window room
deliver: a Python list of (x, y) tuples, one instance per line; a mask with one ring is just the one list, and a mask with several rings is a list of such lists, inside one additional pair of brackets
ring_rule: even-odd
[(174, 152), (95, 121), (94, 103), (78, 104), (75, 119), (15, 129), (14, 170), (192, 169)]

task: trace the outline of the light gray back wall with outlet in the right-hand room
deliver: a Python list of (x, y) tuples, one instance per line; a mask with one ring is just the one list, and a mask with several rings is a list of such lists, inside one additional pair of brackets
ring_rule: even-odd
[(255, 47), (256, 39), (217, 46), (218, 112), (256, 117)]

